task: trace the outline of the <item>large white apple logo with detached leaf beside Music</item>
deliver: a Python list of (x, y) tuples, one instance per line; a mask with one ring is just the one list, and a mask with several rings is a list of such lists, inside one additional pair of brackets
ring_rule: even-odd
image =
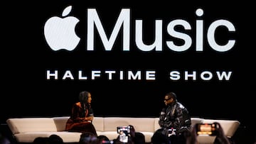
[(78, 18), (68, 16), (72, 6), (67, 6), (62, 17), (53, 16), (46, 21), (44, 26), (44, 36), (46, 42), (52, 50), (74, 50), (80, 38), (75, 34), (75, 26), (79, 22)]

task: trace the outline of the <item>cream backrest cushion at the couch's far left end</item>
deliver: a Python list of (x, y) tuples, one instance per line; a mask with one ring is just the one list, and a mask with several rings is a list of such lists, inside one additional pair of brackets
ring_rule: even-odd
[(6, 123), (14, 134), (57, 131), (53, 118), (9, 118)]

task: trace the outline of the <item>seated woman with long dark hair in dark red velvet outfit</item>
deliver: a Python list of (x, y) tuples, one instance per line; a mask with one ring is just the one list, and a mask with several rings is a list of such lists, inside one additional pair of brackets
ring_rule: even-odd
[(92, 125), (93, 111), (91, 108), (92, 96), (90, 92), (80, 92), (79, 101), (72, 107), (71, 116), (66, 123), (66, 131), (90, 132), (97, 135)]

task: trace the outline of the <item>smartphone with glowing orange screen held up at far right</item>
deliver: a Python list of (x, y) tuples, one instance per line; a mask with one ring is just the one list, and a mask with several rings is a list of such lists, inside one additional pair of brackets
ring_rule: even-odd
[(217, 126), (215, 123), (197, 123), (196, 133), (198, 135), (216, 135)]

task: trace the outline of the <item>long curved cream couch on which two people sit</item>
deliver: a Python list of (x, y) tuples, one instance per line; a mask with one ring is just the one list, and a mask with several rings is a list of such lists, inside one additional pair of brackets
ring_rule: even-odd
[[(9, 118), (6, 120), (14, 138), (18, 143), (32, 143), (37, 137), (48, 137), (57, 134), (64, 143), (78, 143), (81, 133), (65, 131), (68, 116), (51, 118)], [(240, 125), (239, 121), (191, 118), (192, 126), (196, 123), (212, 123), (217, 121), (223, 126), (225, 135), (232, 137)], [(117, 126), (134, 126), (135, 130), (145, 135), (146, 143), (151, 142), (151, 136), (159, 129), (159, 118), (137, 117), (95, 117), (92, 121), (97, 135), (106, 135), (110, 140), (117, 138)], [(214, 136), (198, 136), (199, 143), (213, 143)]]

